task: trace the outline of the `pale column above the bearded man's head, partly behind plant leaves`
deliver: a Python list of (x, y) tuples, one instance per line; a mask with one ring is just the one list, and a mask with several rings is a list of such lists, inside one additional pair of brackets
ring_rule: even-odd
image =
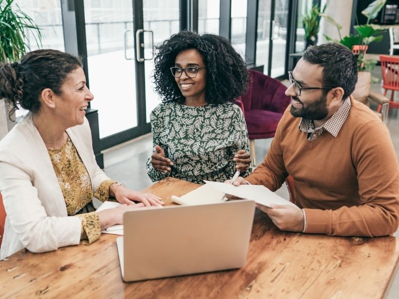
[[(327, 8), (325, 14), (332, 17), (342, 26), (341, 37), (348, 35), (351, 29), (353, 0), (322, 0), (321, 7), (323, 7), (326, 2)], [(333, 39), (340, 39), (337, 27), (326, 21), (324, 18), (320, 21), (318, 44), (327, 42), (323, 33)]]

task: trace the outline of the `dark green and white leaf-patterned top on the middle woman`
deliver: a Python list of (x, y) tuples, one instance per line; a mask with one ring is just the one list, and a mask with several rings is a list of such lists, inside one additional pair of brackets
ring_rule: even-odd
[[(151, 157), (147, 172), (152, 181), (173, 176), (203, 184), (224, 181), (235, 172), (234, 154), (249, 150), (248, 133), (241, 109), (230, 102), (191, 107), (163, 102), (151, 112), (153, 147), (159, 145), (174, 165), (162, 173)], [(242, 176), (250, 173), (247, 169)]]

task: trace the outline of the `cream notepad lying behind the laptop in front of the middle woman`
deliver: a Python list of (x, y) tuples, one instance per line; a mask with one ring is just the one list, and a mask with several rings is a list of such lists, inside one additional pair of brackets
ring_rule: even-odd
[(204, 184), (199, 188), (183, 195), (183, 196), (175, 196), (172, 195), (172, 201), (178, 204), (206, 204), (206, 203), (214, 203), (221, 202), (223, 197), (223, 192), (219, 191), (208, 184)]

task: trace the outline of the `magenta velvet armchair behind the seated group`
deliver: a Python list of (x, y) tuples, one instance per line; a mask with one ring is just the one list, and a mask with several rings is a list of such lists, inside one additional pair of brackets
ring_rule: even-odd
[(243, 109), (255, 165), (254, 140), (274, 137), (278, 122), (291, 98), (285, 95), (287, 87), (277, 79), (254, 70), (248, 72), (248, 91), (238, 98), (236, 103)]

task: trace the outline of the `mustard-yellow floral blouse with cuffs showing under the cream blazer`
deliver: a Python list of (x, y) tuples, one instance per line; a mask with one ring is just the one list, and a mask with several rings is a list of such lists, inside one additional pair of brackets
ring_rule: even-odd
[(47, 149), (64, 195), (68, 216), (76, 215), (82, 220), (80, 243), (89, 245), (101, 235), (100, 219), (94, 212), (93, 196), (106, 201), (109, 187), (116, 181), (103, 181), (93, 194), (91, 180), (75, 146), (68, 137), (60, 149)]

